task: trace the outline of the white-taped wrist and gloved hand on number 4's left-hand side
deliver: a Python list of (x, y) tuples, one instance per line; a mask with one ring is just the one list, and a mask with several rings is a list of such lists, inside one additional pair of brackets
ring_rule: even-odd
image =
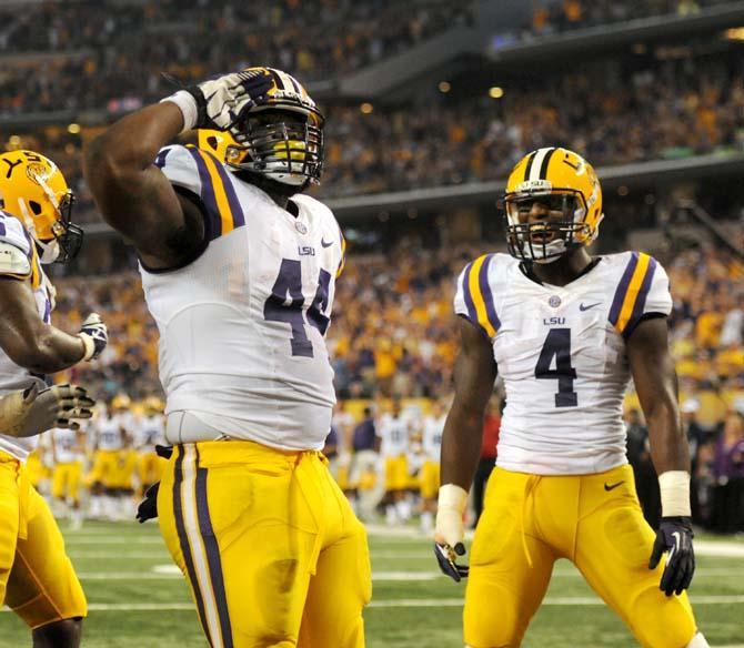
[(467, 565), (458, 565), (458, 556), (464, 556), (465, 508), (467, 492), (455, 484), (445, 484), (439, 489), (436, 526), (434, 528), (434, 554), (440, 569), (455, 581), (467, 576)]

